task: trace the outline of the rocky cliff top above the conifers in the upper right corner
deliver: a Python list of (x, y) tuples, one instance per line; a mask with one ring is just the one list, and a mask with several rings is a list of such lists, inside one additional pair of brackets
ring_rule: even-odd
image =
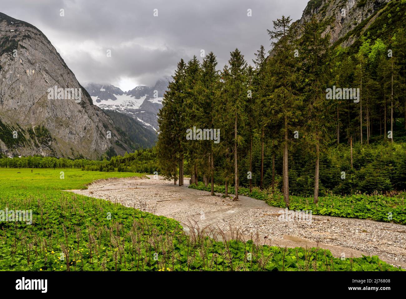
[[(393, 1), (393, 0), (392, 0)], [(315, 14), (319, 22), (322, 23), (324, 34), (330, 33), (330, 43), (340, 41), (342, 46), (350, 46), (356, 37), (349, 35), (356, 26), (374, 18), (391, 0), (311, 0), (303, 11), (300, 20), (293, 24), (294, 30), (298, 25)], [(371, 21), (371, 20), (369, 20)], [(370, 22), (366, 22), (364, 29)], [(300, 32), (296, 33), (300, 36)]]

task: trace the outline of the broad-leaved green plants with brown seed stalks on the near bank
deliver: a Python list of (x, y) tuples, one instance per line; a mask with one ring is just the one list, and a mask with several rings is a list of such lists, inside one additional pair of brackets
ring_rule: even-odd
[[(57, 195), (56, 204), (52, 196), (36, 196), (29, 200), (30, 206), (27, 201), (27, 208), (32, 209), (32, 220), (36, 225), (26, 225), (24, 222), (2, 223), (3, 229), (11, 229), (13, 234), (0, 243), (1, 252), (26, 261), (25, 264), (11, 264), (6, 259), (0, 259), (2, 269), (398, 270), (377, 257), (352, 258), (350, 261), (335, 258), (330, 251), (322, 249), (268, 246), (258, 233), (253, 233), (251, 240), (247, 241), (240, 228), (230, 227), (226, 233), (216, 227), (199, 227), (199, 222), (194, 220), (190, 220), (189, 233), (186, 234), (176, 220), (102, 199), (86, 200), (81, 195), (63, 193)], [(14, 206), (17, 199), (3, 196), (0, 202), (4, 201)], [(105, 211), (112, 211), (111, 220), (106, 219)], [(75, 224), (65, 223), (65, 219), (72, 219)]]

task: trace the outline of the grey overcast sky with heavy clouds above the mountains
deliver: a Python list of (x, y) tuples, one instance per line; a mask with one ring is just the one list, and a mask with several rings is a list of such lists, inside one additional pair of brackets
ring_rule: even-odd
[[(0, 11), (41, 30), (85, 85), (124, 91), (171, 76), (177, 62), (213, 51), (218, 69), (239, 48), (249, 63), (272, 20), (298, 20), (307, 0), (0, 0)], [(64, 9), (65, 16), (60, 16)], [(154, 9), (158, 16), (154, 16)], [(247, 16), (251, 9), (252, 16)], [(107, 51), (111, 50), (111, 57)]]

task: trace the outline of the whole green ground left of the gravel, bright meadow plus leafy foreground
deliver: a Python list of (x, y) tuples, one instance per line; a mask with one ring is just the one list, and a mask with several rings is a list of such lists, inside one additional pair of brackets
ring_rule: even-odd
[[(0, 210), (3, 217), (7, 210), (9, 218), (0, 221), (0, 270), (399, 270), (378, 257), (341, 260), (324, 249), (268, 247), (259, 240), (218, 242), (201, 233), (186, 236), (173, 219), (61, 191), (130, 176), (141, 174), (0, 168)], [(31, 211), (32, 218), (10, 220), (17, 211)]]

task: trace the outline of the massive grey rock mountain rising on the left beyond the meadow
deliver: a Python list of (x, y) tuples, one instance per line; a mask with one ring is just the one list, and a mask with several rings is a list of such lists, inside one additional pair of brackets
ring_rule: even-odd
[[(111, 146), (123, 151), (112, 120), (93, 106), (47, 37), (3, 13), (0, 79), (1, 153), (97, 158)], [(59, 99), (50, 95), (55, 86), (64, 89)], [(65, 88), (76, 89), (76, 98), (65, 98)], [(13, 132), (17, 138), (10, 138)]]

